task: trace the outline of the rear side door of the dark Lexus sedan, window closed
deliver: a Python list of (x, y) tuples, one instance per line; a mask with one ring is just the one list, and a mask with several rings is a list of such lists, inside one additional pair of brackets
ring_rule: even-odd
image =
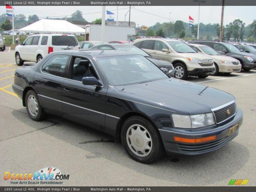
[(67, 76), (69, 54), (54, 54), (38, 67), (33, 84), (46, 111), (62, 114), (63, 81)]

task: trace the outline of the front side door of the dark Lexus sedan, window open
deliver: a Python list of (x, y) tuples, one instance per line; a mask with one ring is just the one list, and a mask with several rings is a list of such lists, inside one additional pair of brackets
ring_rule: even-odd
[(99, 79), (89, 58), (73, 56), (63, 82), (63, 117), (104, 131), (107, 85), (83, 85), (83, 77)]

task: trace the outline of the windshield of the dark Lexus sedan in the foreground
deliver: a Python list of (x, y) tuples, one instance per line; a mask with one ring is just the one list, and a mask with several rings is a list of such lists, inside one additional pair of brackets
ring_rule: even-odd
[(96, 61), (113, 86), (168, 79), (161, 69), (142, 55), (99, 57)]

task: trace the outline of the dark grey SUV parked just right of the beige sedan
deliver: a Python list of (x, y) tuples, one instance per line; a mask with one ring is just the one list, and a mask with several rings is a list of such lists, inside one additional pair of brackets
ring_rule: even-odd
[(207, 45), (222, 55), (233, 57), (240, 61), (245, 71), (256, 69), (256, 56), (251, 53), (242, 52), (230, 43), (207, 40), (190, 40), (188, 43)]

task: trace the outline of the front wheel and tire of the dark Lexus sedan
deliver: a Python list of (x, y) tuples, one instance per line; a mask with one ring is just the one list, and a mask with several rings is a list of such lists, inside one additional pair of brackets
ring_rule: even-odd
[(140, 116), (128, 118), (121, 130), (126, 153), (135, 161), (151, 163), (163, 155), (162, 139), (155, 126)]

